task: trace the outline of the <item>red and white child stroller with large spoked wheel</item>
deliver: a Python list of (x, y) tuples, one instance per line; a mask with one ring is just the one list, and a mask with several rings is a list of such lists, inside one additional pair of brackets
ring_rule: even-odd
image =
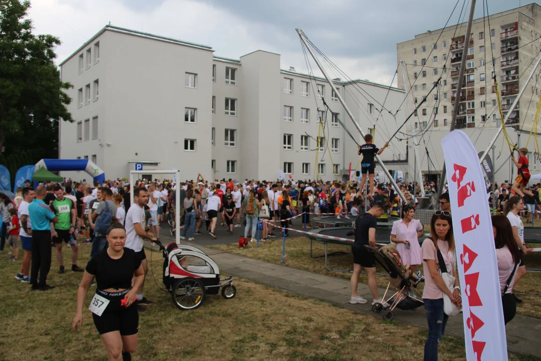
[(236, 296), (233, 277), (220, 279), (220, 269), (212, 258), (194, 246), (170, 243), (167, 248), (155, 241), (163, 252), (163, 284), (175, 306), (181, 310), (194, 310), (201, 306), (209, 294), (232, 299)]

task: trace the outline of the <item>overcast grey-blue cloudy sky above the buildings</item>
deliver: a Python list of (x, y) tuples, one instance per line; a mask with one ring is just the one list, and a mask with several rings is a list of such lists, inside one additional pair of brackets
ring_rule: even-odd
[[(518, 0), (488, 3), (490, 14), (519, 6)], [(57, 63), (111, 22), (210, 45), (217, 56), (238, 59), (258, 49), (276, 52), (282, 69), (306, 71), (295, 32), (300, 28), (349, 77), (389, 84), (397, 67), (396, 44), (443, 27), (454, 4), (453, 0), (32, 0), (30, 17), (36, 34), (55, 35), (62, 41)], [(450, 24), (457, 23), (462, 4), (461, 0)], [(476, 18), (482, 16), (483, 1), (478, 1)]]

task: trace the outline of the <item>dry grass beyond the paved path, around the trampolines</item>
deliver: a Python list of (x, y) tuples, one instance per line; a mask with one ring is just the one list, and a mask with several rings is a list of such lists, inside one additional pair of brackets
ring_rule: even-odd
[[(536, 245), (528, 245), (536, 247)], [(324, 245), (319, 242), (313, 242), (313, 255), (323, 255), (325, 252)], [(282, 262), (282, 239), (276, 238), (265, 242), (260, 242), (260, 247), (239, 248), (238, 244), (229, 244), (222, 246), (212, 246), (217, 250), (232, 252), (234, 254), (243, 255), (250, 258), (256, 258), (275, 264)], [(351, 246), (328, 244), (328, 252), (344, 252), (344, 254), (332, 255), (328, 258), (328, 264), (331, 268), (340, 268), (342, 270), (353, 270), (353, 257)], [(310, 257), (310, 240), (307, 237), (286, 238), (286, 265), (294, 268), (300, 268), (315, 273), (333, 275), (349, 279), (351, 274), (342, 272), (329, 272), (325, 268), (325, 258)], [(525, 258), (526, 268), (541, 268), (541, 253), (530, 253)], [(385, 273), (381, 266), (377, 265), (377, 270), (380, 273)], [(422, 272), (422, 270), (421, 270)], [(386, 287), (388, 277), (385, 275), (377, 275), (378, 285)], [(362, 283), (368, 283), (366, 273), (361, 274), (360, 280)], [(523, 316), (541, 318), (541, 273), (528, 272), (518, 283), (515, 293), (517, 297), (524, 302), (517, 305), (517, 314)], [(423, 283), (419, 284), (418, 290), (422, 292)]]

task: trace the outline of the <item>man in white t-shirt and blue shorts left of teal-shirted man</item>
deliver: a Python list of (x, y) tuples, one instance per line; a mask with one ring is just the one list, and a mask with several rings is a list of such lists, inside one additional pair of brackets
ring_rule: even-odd
[(28, 206), (30, 206), (30, 203), (34, 200), (34, 198), (36, 198), (34, 189), (24, 187), (23, 200), (17, 209), (17, 218), (21, 224), (21, 228), (19, 228), (19, 237), (21, 237), (24, 255), (21, 269), (15, 276), (15, 279), (23, 283), (30, 283), (30, 261), (32, 260), (32, 224), (30, 222)]

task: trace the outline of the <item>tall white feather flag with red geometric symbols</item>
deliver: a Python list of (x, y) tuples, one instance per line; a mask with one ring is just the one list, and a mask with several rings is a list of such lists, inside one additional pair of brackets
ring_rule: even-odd
[(442, 141), (451, 199), (468, 361), (507, 360), (498, 262), (483, 170), (469, 137)]

